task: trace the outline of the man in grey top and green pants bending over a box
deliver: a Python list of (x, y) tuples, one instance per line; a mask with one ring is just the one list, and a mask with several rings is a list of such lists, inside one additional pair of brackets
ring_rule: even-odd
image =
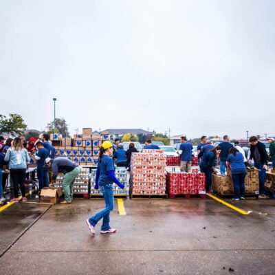
[(45, 162), (49, 170), (52, 170), (50, 187), (54, 186), (58, 173), (64, 174), (63, 189), (65, 200), (61, 201), (61, 204), (72, 203), (74, 195), (74, 180), (80, 173), (80, 167), (75, 162), (72, 162), (72, 160), (67, 159), (67, 157), (56, 157), (55, 159), (47, 157)]

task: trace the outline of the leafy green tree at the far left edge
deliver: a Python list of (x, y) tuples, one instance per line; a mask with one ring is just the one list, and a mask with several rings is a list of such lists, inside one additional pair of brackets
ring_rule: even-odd
[(12, 135), (21, 135), (27, 128), (21, 115), (10, 113), (10, 117), (0, 115), (0, 133), (11, 133)]

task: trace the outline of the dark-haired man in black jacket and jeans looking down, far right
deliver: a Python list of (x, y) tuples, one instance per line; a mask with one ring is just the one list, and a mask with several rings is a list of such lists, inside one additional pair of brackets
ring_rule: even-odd
[(248, 163), (254, 160), (254, 166), (259, 169), (259, 197), (265, 198), (265, 174), (267, 170), (268, 155), (265, 150), (265, 144), (259, 142), (256, 136), (250, 137), (250, 159)]

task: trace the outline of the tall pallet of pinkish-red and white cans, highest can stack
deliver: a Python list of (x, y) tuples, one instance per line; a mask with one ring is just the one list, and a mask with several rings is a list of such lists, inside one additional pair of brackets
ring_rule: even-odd
[(165, 195), (166, 156), (161, 150), (133, 153), (131, 157), (131, 195)]

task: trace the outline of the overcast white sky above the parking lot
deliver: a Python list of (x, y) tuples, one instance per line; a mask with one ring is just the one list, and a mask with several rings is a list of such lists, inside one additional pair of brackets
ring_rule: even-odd
[(275, 135), (275, 1), (0, 0), (0, 113), (71, 133)]

